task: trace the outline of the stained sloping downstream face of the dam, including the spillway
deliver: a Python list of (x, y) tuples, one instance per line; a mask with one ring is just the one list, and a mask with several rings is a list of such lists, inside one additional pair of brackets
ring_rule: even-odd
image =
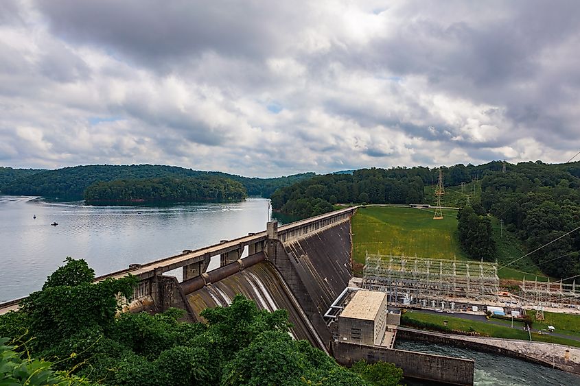
[(290, 236), (268, 240), (266, 254), (208, 272), (214, 278), (206, 279), (210, 284), (204, 285), (201, 278), (184, 282), (194, 317), (202, 320), (203, 309), (227, 306), (241, 293), (261, 309), (286, 309), (294, 337), (327, 350), (331, 334), (323, 315), (352, 277), (350, 219)]

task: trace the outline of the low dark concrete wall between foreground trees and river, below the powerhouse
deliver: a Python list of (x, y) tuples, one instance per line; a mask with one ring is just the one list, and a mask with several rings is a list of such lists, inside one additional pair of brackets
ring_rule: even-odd
[(369, 363), (384, 361), (401, 367), (404, 376), (409, 378), (451, 385), (473, 385), (474, 382), (475, 362), (472, 359), (443, 357), (340, 341), (332, 342), (332, 354), (338, 363), (348, 367), (360, 359)]

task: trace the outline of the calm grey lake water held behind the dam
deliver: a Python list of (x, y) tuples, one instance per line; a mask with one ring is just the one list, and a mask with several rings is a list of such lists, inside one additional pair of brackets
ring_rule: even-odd
[(0, 195), (0, 302), (40, 289), (67, 256), (98, 276), (265, 230), (268, 202), (99, 207)]

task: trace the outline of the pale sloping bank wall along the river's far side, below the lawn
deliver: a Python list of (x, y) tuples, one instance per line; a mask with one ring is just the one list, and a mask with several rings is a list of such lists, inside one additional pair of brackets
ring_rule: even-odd
[(518, 339), (450, 335), (401, 326), (397, 329), (397, 338), (492, 352), (580, 375), (580, 349), (570, 346)]

